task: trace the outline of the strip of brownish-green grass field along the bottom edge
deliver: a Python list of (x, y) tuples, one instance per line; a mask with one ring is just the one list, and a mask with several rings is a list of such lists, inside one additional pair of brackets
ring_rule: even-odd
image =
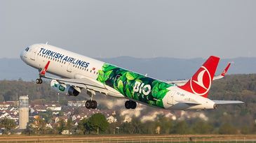
[(256, 135), (2, 135), (0, 142), (256, 142)]

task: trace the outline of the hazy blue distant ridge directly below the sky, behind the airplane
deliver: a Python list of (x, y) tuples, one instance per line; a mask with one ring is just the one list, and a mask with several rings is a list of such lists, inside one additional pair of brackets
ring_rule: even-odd
[[(147, 73), (150, 77), (160, 80), (178, 80), (190, 78), (206, 59), (116, 57), (100, 60), (137, 73)], [(216, 74), (219, 74), (229, 61), (234, 63), (231, 65), (228, 74), (256, 73), (256, 57), (240, 57), (222, 59)], [(18, 80), (19, 78), (34, 80), (38, 75), (37, 70), (27, 66), (20, 59), (0, 59), (0, 67), (0, 80)]]

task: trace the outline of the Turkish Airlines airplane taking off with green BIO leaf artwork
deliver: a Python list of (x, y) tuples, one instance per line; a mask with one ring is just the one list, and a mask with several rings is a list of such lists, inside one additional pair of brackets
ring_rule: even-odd
[[(126, 98), (126, 109), (135, 109), (137, 103), (141, 103), (166, 110), (213, 110), (217, 109), (217, 105), (243, 103), (239, 100), (208, 98), (220, 61), (215, 56), (210, 56), (191, 79), (182, 85), (156, 80), (48, 43), (30, 45), (21, 52), (20, 58), (39, 70), (36, 84), (41, 84), (42, 78), (49, 79), (53, 89), (69, 96), (78, 96), (82, 89), (86, 90), (90, 96), (90, 100), (86, 101), (87, 109), (97, 108), (97, 101), (93, 100), (96, 92)], [(222, 77), (229, 66), (230, 63)], [(46, 73), (58, 77), (49, 77)]]

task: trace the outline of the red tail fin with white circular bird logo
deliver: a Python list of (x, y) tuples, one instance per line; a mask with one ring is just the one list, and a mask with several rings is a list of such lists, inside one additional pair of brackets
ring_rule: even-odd
[(186, 84), (180, 86), (180, 89), (207, 98), (219, 61), (219, 57), (209, 57), (193, 77)]

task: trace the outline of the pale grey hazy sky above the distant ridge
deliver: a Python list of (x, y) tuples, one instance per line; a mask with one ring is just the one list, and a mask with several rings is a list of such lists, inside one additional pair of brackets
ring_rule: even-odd
[(88, 57), (256, 57), (256, 1), (0, 1), (0, 58), (46, 41)]

